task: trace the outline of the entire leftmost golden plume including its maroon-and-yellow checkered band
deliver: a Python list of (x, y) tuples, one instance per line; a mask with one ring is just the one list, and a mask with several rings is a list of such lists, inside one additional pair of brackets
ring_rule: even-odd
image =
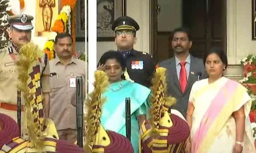
[(37, 45), (28, 43), (19, 49), (16, 62), (18, 71), (18, 89), (25, 99), (26, 127), (31, 147), (43, 152), (43, 102), (40, 87), (39, 58), (44, 53)]

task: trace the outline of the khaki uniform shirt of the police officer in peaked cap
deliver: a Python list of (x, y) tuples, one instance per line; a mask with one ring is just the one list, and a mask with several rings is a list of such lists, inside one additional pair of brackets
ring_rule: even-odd
[[(13, 48), (13, 53), (15, 54), (16, 58), (17, 51)], [(17, 66), (14, 64), (14, 60), (10, 56), (9, 47), (3, 49), (0, 52), (0, 102), (9, 103), (9, 104), (17, 104), (17, 84), (18, 80), (18, 72)], [(42, 59), (43, 60), (43, 59)], [(40, 64), (40, 73), (42, 74), (43, 68), (45, 64)], [(49, 75), (49, 63), (46, 64), (46, 68), (43, 71), (43, 74)], [(41, 77), (41, 86), (42, 92), (47, 93), (50, 92), (50, 77)], [(21, 96), (21, 104), (24, 104), (24, 98)]]

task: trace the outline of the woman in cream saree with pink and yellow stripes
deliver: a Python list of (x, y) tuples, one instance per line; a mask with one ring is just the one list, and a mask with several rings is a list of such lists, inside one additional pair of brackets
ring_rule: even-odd
[(203, 59), (209, 78), (193, 84), (186, 120), (187, 153), (255, 153), (250, 96), (240, 83), (223, 77), (227, 56), (218, 48)]

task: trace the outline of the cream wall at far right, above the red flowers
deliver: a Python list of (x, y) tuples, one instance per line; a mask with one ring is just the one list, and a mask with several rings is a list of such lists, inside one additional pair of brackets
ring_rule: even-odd
[(256, 54), (252, 41), (251, 0), (227, 0), (227, 55), (229, 64), (240, 64), (244, 56)]

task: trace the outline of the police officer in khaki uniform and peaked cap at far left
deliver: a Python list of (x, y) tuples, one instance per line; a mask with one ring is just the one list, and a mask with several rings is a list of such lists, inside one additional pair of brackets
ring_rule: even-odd
[[(11, 38), (10, 46), (0, 51), (0, 113), (11, 116), (17, 121), (17, 84), (18, 72), (15, 65), (19, 53), (19, 47), (27, 44), (31, 40), (31, 23), (33, 17), (30, 15), (14, 15), (8, 17), (11, 25), (9, 29), (9, 37)], [(47, 58), (46, 58), (47, 59)], [(43, 104), (45, 109), (45, 117), (49, 116), (50, 103), (50, 85), (49, 85), (49, 63), (46, 59), (39, 59), (41, 86), (43, 92)], [(44, 74), (44, 75), (42, 75)], [(25, 100), (21, 93), (21, 105)], [(24, 134), (25, 113), (21, 107), (21, 133)]]

